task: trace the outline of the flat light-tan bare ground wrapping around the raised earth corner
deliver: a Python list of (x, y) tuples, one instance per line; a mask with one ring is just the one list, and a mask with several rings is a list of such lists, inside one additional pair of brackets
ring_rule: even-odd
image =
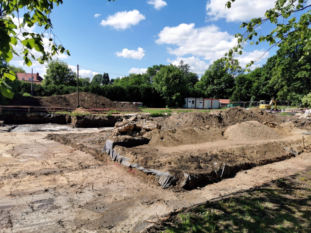
[(147, 219), (247, 190), (311, 164), (311, 154), (301, 153), (240, 171), (202, 189), (174, 192), (146, 183), (115, 162), (103, 163), (90, 154), (44, 139), (48, 133), (0, 134), (0, 232), (142, 231), (150, 225)]

